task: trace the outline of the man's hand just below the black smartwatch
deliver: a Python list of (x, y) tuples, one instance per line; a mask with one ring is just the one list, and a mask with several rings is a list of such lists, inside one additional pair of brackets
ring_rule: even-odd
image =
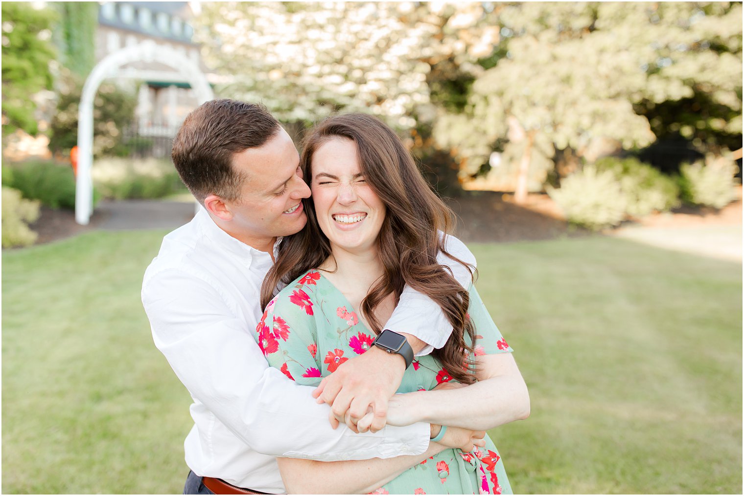
[[(403, 356), (371, 347), (324, 377), (312, 396), (330, 405), (333, 428), (344, 422), (354, 432), (377, 432), (385, 427), (388, 399), (400, 387), (403, 373)], [(356, 424), (368, 413), (358, 429)]]

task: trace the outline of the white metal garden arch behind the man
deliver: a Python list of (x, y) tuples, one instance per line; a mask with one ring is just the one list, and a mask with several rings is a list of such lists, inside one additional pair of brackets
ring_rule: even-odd
[[(93, 213), (93, 100), (100, 83), (109, 77), (124, 76), (137, 78), (138, 71), (118, 74), (121, 66), (132, 62), (160, 62), (179, 71), (196, 94), (199, 105), (214, 99), (212, 88), (199, 65), (184, 54), (168, 46), (156, 45), (146, 40), (132, 47), (122, 48), (110, 53), (97, 63), (83, 85), (80, 107), (77, 114), (77, 180), (75, 183), (75, 221), (86, 225)], [(151, 74), (147, 79), (152, 80)]]

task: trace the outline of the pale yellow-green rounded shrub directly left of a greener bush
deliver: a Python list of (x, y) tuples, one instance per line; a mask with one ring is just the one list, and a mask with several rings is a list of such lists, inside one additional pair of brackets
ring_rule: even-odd
[(586, 166), (562, 180), (560, 189), (546, 189), (571, 223), (598, 230), (625, 217), (626, 195), (612, 172)]

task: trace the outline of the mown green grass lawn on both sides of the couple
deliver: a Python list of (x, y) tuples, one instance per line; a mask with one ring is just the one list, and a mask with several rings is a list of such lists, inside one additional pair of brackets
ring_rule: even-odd
[[(190, 397), (141, 278), (164, 232), (2, 254), (2, 492), (180, 493)], [(742, 266), (614, 238), (472, 245), (532, 415), (522, 493), (740, 493)]]

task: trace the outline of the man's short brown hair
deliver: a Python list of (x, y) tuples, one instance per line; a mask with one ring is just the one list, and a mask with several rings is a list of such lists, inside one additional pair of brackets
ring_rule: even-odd
[(199, 202), (208, 195), (236, 201), (245, 177), (233, 169), (233, 154), (263, 146), (279, 129), (263, 105), (211, 100), (184, 120), (173, 140), (173, 164)]

